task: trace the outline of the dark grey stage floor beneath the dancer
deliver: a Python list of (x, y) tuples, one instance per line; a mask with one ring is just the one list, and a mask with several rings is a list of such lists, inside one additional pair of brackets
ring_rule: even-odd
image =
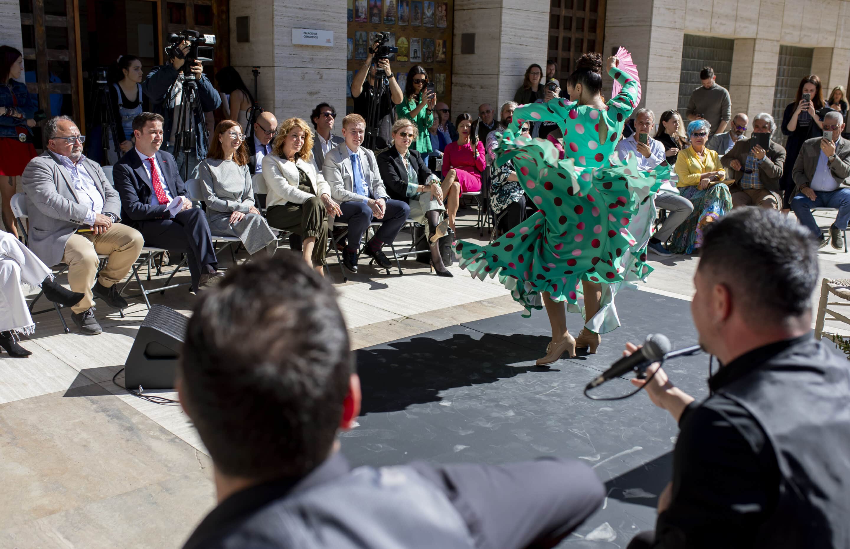
[[(596, 355), (536, 367), (549, 325), (544, 311), (469, 322), (360, 350), (360, 425), (343, 434), (354, 465), (513, 462), (572, 457), (606, 483), (604, 507), (561, 546), (625, 547), (655, 525), (657, 496), (670, 479), (677, 424), (643, 393), (590, 401), (581, 390), (621, 356), (626, 341), (664, 333), (673, 347), (696, 343), (690, 303), (642, 291), (617, 295), (621, 328), (604, 335)], [(581, 317), (568, 315), (571, 333)], [(715, 367), (717, 362), (715, 361)], [(707, 393), (708, 356), (666, 364), (672, 381), (698, 400)], [(612, 380), (598, 395), (632, 389)], [(613, 543), (612, 543), (613, 542)]]

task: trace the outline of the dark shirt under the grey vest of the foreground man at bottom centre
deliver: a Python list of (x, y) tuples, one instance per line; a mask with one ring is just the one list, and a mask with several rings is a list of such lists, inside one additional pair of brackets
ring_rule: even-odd
[[(604, 490), (587, 465), (558, 459), (494, 466), (476, 463), (411, 467), (445, 493), (467, 524), (476, 547), (512, 549), (554, 546), (596, 511)], [(236, 492), (218, 504), (186, 541), (184, 549), (241, 546), (278, 547), (241, 530), (253, 514), (291, 491), (333, 482), (348, 474), (348, 461), (335, 452), (302, 479), (280, 479)]]

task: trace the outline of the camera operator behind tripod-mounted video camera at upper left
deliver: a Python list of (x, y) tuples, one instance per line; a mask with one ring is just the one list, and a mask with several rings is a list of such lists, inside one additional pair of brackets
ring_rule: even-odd
[[(189, 53), (190, 47), (191, 43), (189, 41), (180, 42), (179, 49), (183, 52), (183, 55)], [(176, 108), (183, 102), (184, 76), (182, 69), (185, 62), (185, 59), (177, 56), (171, 58), (168, 63), (154, 67), (148, 73), (148, 76), (145, 77), (142, 84), (144, 95), (150, 98), (151, 110), (165, 118), (165, 124), (163, 125), (165, 135), (163, 136), (163, 140), (165, 143), (168, 143), (167, 151), (178, 159), (183, 159), (184, 155), (179, 154), (179, 151), (174, 151), (174, 134), (176, 133), (176, 128), (173, 128), (173, 118)], [(201, 61), (195, 60), (192, 64), (191, 72), (198, 83), (197, 100), (200, 102), (203, 112), (210, 112), (221, 106), (221, 96), (212, 87), (212, 83), (204, 75), (203, 70)], [(195, 140), (195, 155), (193, 157), (190, 154), (190, 173), (200, 160), (207, 157), (207, 146), (204, 143), (204, 139), (200, 137), (207, 132), (206, 123), (202, 117), (200, 120), (195, 120), (195, 126), (192, 130)]]

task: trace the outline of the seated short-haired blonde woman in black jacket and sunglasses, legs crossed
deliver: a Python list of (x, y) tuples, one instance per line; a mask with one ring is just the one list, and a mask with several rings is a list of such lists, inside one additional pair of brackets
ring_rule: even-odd
[(377, 155), (377, 167), (390, 198), (407, 203), (413, 221), (428, 222), (431, 265), (440, 277), (451, 277), (439, 253), (439, 238), (445, 235), (448, 227), (448, 221), (439, 221), (441, 212), (445, 211), (443, 189), (439, 177), (433, 175), (422, 162), (422, 156), (410, 148), (411, 143), (416, 143), (416, 126), (406, 118), (396, 120), (393, 145)]

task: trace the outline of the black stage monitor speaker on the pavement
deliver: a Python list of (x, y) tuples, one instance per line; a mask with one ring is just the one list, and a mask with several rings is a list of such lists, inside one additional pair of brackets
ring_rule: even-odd
[(180, 347), (189, 318), (163, 305), (152, 305), (124, 363), (127, 389), (172, 389)]

